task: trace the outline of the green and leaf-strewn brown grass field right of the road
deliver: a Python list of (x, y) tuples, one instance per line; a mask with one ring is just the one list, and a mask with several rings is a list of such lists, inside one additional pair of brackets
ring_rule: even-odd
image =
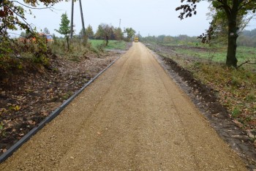
[[(213, 88), (217, 92), (219, 102), (227, 107), (230, 115), (243, 123), (246, 129), (256, 128), (255, 65), (244, 65), (238, 69), (225, 66), (225, 48), (219, 45), (208, 47), (199, 44), (198, 47), (188, 46), (188, 42), (180, 46), (174, 42), (159, 44), (159, 42), (153, 43), (148, 47), (161, 56), (172, 58), (180, 66), (192, 72), (196, 80)], [(208, 61), (208, 50), (216, 52), (211, 63)], [(238, 47), (238, 52), (244, 54), (241, 62), (248, 58), (256, 61), (253, 55), (256, 54), (255, 48)]]

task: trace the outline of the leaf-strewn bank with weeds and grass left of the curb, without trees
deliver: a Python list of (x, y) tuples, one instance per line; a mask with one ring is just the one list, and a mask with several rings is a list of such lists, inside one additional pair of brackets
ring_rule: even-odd
[(23, 32), (8, 39), (10, 51), (1, 53), (0, 154), (130, 45), (125, 37), (113, 37), (106, 45), (105, 39), (84, 41), (79, 34), (68, 42), (66, 37), (53, 35), (48, 41), (38, 35)]

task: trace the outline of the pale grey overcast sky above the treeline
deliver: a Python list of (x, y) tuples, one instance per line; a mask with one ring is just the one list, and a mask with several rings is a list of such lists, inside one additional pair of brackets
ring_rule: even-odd
[[(100, 23), (108, 23), (114, 27), (132, 27), (135, 31), (140, 31), (143, 37), (152, 35), (178, 36), (187, 34), (198, 36), (202, 34), (208, 23), (206, 13), (208, 12), (208, 2), (203, 1), (197, 5), (197, 15), (192, 18), (179, 20), (176, 7), (181, 4), (180, 0), (82, 0), (85, 26), (89, 24), (94, 29)], [(60, 36), (54, 29), (59, 28), (61, 14), (67, 12), (69, 20), (71, 18), (71, 1), (61, 2), (53, 6), (54, 9), (32, 10), (36, 18), (27, 16), (28, 23), (33, 23), (37, 31), (48, 28), (50, 34)], [(82, 28), (80, 18), (79, 2), (75, 2), (74, 13), (75, 34)], [(255, 20), (249, 24), (247, 29), (256, 28)]]

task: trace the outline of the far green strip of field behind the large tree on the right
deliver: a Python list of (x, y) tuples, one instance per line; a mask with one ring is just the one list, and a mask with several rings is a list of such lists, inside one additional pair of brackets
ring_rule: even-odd
[[(184, 39), (184, 37), (180, 36), (171, 37), (170, 42), (160, 42), (159, 37), (144, 37), (143, 42), (148, 42), (148, 39), (153, 40), (154, 43), (172, 47), (177, 54), (186, 54), (187, 56), (222, 63), (225, 63), (226, 60), (226, 47), (221, 44), (208, 46), (199, 42), (195, 37), (187, 37)], [(238, 64), (244, 63), (245, 61), (256, 62), (255, 54), (255, 47), (238, 46), (236, 52), (236, 56), (239, 59)]]

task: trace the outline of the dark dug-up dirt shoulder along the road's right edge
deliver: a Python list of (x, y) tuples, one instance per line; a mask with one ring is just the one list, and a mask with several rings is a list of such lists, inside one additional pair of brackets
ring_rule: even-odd
[[(171, 47), (169, 49), (164, 48), (165, 54), (176, 55)], [(241, 156), (250, 169), (256, 169), (256, 145), (250, 140), (247, 132), (244, 132), (240, 125), (230, 118), (227, 108), (219, 102), (216, 91), (195, 79), (192, 72), (184, 69), (173, 59), (161, 56), (162, 51), (156, 50), (155, 52), (151, 51), (151, 53), (177, 85), (192, 99), (200, 112), (206, 116), (219, 136), (238, 153), (238, 156)], [(179, 54), (179, 56), (181, 55)], [(190, 61), (196, 60), (196, 58), (187, 56), (186, 58)]]

